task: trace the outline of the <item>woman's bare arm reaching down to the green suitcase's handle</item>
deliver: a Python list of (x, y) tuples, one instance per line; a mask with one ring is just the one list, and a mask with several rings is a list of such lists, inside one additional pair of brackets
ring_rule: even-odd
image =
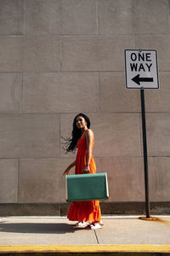
[(93, 139), (94, 139), (94, 132), (92, 130), (85, 131), (85, 138), (87, 142), (87, 157), (86, 157), (86, 166), (84, 167), (83, 173), (90, 172), (90, 160), (92, 157), (92, 150), (93, 150)]

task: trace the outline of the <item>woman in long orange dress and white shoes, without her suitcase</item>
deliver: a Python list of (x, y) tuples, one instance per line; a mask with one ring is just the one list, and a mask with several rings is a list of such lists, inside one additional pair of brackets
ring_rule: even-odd
[[(77, 158), (65, 169), (63, 175), (69, 174), (75, 166), (75, 174), (95, 173), (96, 166), (92, 154), (94, 148), (94, 132), (89, 129), (90, 120), (88, 116), (79, 113), (73, 121), (72, 138), (66, 152), (77, 150)], [(102, 222), (99, 201), (78, 201), (72, 202), (67, 218), (78, 221), (79, 227), (89, 226), (92, 230), (101, 229)]]

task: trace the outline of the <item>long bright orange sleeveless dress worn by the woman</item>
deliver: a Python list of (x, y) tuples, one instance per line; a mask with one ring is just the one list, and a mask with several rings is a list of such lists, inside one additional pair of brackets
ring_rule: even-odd
[[(94, 148), (94, 141), (93, 141)], [(77, 159), (75, 166), (75, 174), (82, 174), (82, 170), (86, 166), (87, 157), (87, 142), (85, 135), (77, 143)], [(92, 155), (89, 163), (90, 173), (96, 172), (96, 165)], [(71, 203), (67, 218), (72, 221), (100, 221), (101, 211), (99, 207), (99, 200), (95, 201), (76, 201)]]

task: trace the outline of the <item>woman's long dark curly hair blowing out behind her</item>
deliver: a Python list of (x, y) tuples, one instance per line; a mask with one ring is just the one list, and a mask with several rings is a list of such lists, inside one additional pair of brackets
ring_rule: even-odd
[(78, 116), (82, 116), (86, 123), (87, 123), (87, 127), (88, 129), (90, 128), (90, 119), (88, 118), (88, 116), (84, 113), (79, 113), (77, 114), (77, 116), (74, 118), (73, 120), (73, 129), (72, 129), (72, 137), (71, 138), (65, 138), (65, 137), (62, 137), (64, 140), (65, 140), (65, 153), (68, 153), (68, 152), (75, 152), (76, 149), (77, 149), (77, 143), (78, 143), (78, 140), (82, 137), (82, 131), (80, 129), (77, 128), (77, 117)]

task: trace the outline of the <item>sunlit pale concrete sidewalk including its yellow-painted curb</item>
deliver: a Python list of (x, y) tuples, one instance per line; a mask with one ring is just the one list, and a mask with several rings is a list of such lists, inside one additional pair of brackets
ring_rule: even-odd
[[(158, 216), (157, 216), (158, 217)], [(75, 228), (67, 218), (0, 218), (0, 253), (155, 252), (170, 254), (170, 216), (103, 216), (102, 230)]]

